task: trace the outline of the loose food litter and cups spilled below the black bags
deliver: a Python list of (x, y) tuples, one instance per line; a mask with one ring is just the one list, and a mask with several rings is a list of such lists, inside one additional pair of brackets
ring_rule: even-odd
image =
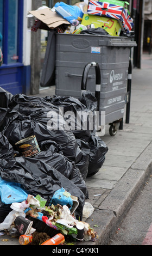
[[(39, 195), (36, 197), (40, 198)], [(67, 205), (40, 206), (37, 199), (33, 199), (36, 198), (28, 195), (27, 200), (15, 205), (16, 210), (12, 210), (0, 223), (0, 228), (7, 229), (11, 236), (17, 237), (21, 245), (60, 245), (66, 239), (68, 241), (68, 237), (71, 237), (71, 241), (96, 239), (96, 232), (88, 223), (71, 215)], [(23, 212), (18, 211), (21, 205), (24, 205)], [(45, 241), (42, 241), (42, 237), (45, 237)]]

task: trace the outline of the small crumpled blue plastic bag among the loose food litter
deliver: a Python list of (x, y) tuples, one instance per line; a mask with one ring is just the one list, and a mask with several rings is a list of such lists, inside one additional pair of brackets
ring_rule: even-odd
[(57, 190), (51, 201), (50, 201), (50, 204), (60, 204), (60, 205), (67, 205), (69, 210), (71, 210), (72, 208), (72, 205), (73, 205), (73, 200), (71, 198), (71, 194), (67, 191), (65, 191), (65, 188), (60, 188), (60, 190)]

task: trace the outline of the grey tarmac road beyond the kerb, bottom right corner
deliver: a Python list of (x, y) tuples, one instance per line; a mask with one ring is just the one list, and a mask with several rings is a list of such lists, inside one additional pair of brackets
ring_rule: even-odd
[(109, 245), (152, 245), (151, 175)]

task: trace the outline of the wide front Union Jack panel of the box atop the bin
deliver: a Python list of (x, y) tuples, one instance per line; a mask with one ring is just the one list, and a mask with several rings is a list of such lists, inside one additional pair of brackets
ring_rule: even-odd
[(107, 2), (96, 2), (89, 1), (87, 13), (92, 15), (105, 15), (113, 19), (120, 20), (122, 15), (123, 7)]

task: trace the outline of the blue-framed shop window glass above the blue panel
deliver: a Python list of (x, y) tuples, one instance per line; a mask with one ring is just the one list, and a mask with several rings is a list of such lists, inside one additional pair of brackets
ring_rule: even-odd
[(0, 32), (4, 65), (22, 63), (23, 0), (0, 0)]

